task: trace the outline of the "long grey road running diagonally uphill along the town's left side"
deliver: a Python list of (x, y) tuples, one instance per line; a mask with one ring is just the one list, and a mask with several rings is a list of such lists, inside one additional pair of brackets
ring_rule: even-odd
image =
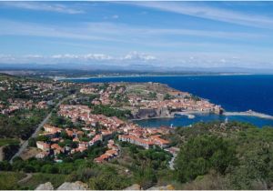
[[(57, 105), (51, 110), (51, 112), (45, 116), (45, 119), (37, 126), (35, 132), (32, 134), (32, 136), (30, 137), (36, 137), (38, 136), (39, 131), (42, 129), (43, 126), (45, 126), (45, 124), (47, 123), (48, 119), (50, 118), (50, 116), (52, 115), (52, 111), (57, 108), (58, 106), (60, 106), (64, 101), (66, 101), (68, 98), (70, 98), (72, 95), (69, 95), (67, 97), (65, 97), (64, 99), (62, 99), (61, 101), (59, 101), (57, 103)], [(29, 138), (30, 138), (29, 137)], [(28, 138), (28, 139), (29, 139)], [(22, 144), (22, 146), (20, 146), (18, 152), (10, 159), (9, 163), (12, 164), (13, 160), (16, 156), (21, 156), (21, 154), (23, 153), (23, 151), (25, 151), (25, 148), (28, 146), (28, 139)]]

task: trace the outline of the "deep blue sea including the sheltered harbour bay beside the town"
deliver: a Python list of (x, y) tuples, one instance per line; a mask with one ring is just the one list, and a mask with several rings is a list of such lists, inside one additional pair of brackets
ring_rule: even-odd
[[(273, 75), (182, 75), (182, 76), (125, 76), (71, 79), (76, 83), (91, 82), (157, 82), (180, 91), (208, 99), (228, 112), (249, 109), (273, 116)], [(140, 126), (190, 126), (197, 122), (241, 121), (255, 126), (273, 126), (272, 119), (256, 116), (195, 115), (137, 120)]]

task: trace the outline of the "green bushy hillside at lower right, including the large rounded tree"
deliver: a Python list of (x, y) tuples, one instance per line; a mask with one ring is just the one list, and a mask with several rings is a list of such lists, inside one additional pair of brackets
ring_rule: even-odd
[(176, 176), (178, 182), (187, 183), (183, 188), (272, 189), (272, 127), (199, 123), (177, 128), (176, 136), (182, 146)]

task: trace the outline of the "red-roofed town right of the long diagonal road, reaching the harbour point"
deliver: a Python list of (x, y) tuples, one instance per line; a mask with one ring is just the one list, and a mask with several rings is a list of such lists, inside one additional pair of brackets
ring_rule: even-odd
[[(130, 91), (130, 89), (136, 91), (136, 85), (144, 88), (142, 89), (143, 92)], [(167, 113), (173, 111), (199, 111), (220, 114), (221, 112), (220, 106), (210, 104), (207, 100), (201, 98), (194, 99), (187, 92), (180, 92), (165, 85), (158, 83), (136, 85), (125, 83), (82, 85), (79, 94), (75, 95), (67, 104), (59, 106), (56, 114), (71, 120), (74, 124), (80, 124), (80, 126), (77, 126), (77, 128), (69, 126), (62, 128), (46, 124), (44, 131), (39, 136), (48, 138), (44, 142), (36, 142), (36, 146), (42, 150), (42, 152), (36, 154), (36, 157), (52, 156), (54, 161), (61, 162), (61, 158), (58, 158), (60, 154), (71, 156), (76, 152), (86, 151), (90, 146), (104, 143), (106, 152), (94, 158), (96, 163), (102, 163), (118, 156), (120, 146), (116, 142), (127, 142), (142, 146), (145, 149), (158, 146), (168, 152), (178, 151), (175, 147), (174, 149), (167, 149), (170, 142), (162, 138), (162, 136), (169, 134), (170, 127), (137, 126), (133, 121), (128, 120), (128, 118), (134, 117), (132, 114), (122, 120), (117, 116), (96, 114), (95, 106), (112, 106), (118, 110), (127, 109), (131, 113), (135, 111), (135, 116), (139, 111), (145, 109), (166, 110)], [(150, 91), (150, 89), (157, 89), (157, 91)], [(86, 95), (91, 96), (92, 100), (86, 98)], [(86, 100), (89, 102), (88, 106), (83, 105)], [(66, 139), (69, 139), (72, 143), (64, 144), (67, 143)], [(174, 154), (173, 152), (170, 153)]]

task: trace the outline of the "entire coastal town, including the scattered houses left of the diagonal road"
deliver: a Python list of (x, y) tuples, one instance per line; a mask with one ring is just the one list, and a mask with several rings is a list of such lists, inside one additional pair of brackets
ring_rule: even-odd
[[(28, 146), (22, 155), (26, 158), (51, 158), (55, 162), (83, 153), (92, 146), (102, 146), (104, 151), (94, 161), (106, 162), (119, 156), (121, 142), (145, 149), (158, 147), (176, 155), (178, 149), (170, 147), (170, 141), (164, 138), (171, 127), (142, 127), (136, 125), (134, 119), (170, 117), (176, 112), (221, 114), (223, 110), (205, 99), (159, 83), (89, 83), (75, 86), (70, 82), (10, 80), (7, 77), (1, 81), (1, 91), (11, 91), (15, 85), (20, 89), (21, 97), (1, 100), (3, 115), (15, 115), (17, 110), (22, 109), (42, 109), (47, 113), (56, 110), (34, 136), (35, 144), (31, 146), (38, 150)], [(57, 100), (72, 93), (64, 104), (55, 107)], [(67, 120), (69, 126), (52, 123), (53, 118)]]

